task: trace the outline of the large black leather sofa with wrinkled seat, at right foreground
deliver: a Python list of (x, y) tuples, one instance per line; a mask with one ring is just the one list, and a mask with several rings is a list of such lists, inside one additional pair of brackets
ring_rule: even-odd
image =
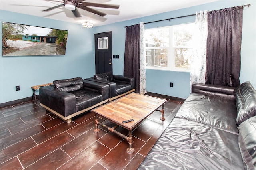
[(138, 170), (255, 170), (256, 91), (192, 84), (180, 107)]

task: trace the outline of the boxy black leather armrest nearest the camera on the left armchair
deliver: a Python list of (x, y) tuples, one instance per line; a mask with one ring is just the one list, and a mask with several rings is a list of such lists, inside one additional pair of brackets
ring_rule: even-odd
[(64, 117), (76, 112), (76, 96), (60, 91), (54, 86), (39, 88), (40, 103), (60, 113)]

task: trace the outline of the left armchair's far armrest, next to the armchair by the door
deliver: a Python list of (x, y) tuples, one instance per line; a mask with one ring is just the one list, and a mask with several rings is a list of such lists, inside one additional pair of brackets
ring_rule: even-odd
[(103, 97), (103, 100), (108, 99), (109, 97), (108, 84), (97, 82), (97, 81), (90, 81), (86, 79), (84, 79), (83, 82), (84, 82), (84, 89), (101, 94)]

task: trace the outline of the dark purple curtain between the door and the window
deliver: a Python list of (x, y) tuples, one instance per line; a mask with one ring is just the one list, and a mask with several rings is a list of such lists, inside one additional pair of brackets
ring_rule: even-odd
[(135, 77), (135, 92), (140, 93), (140, 24), (126, 26), (124, 76)]

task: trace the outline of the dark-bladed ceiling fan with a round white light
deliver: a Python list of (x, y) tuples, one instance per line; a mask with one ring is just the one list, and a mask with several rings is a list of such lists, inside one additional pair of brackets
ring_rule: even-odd
[[(46, 0), (46, 1), (54, 1), (54, 0)], [(79, 11), (77, 8), (81, 8), (83, 10), (86, 10), (88, 12), (92, 12), (94, 14), (97, 14), (99, 16), (105, 16), (106, 13), (100, 12), (98, 10), (95, 10), (93, 8), (90, 8), (89, 6), (93, 7), (100, 7), (100, 8), (113, 8), (113, 9), (118, 9), (119, 5), (114, 5), (114, 4), (100, 4), (100, 3), (92, 3), (92, 2), (84, 2), (86, 0), (61, 0), (61, 1), (54, 1), (54, 2), (61, 2), (62, 4), (54, 6), (52, 8), (48, 8), (43, 11), (50, 11), (55, 8), (59, 8), (61, 6), (64, 6), (67, 10), (72, 10), (73, 14), (75, 17), (81, 17)]]

